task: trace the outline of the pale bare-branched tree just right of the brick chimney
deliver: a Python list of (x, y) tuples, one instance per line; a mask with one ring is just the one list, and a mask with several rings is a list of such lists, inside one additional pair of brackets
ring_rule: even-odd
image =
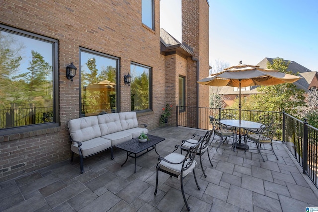
[[(219, 73), (227, 67), (229, 67), (228, 62), (224, 62), (220, 59), (214, 60), (214, 63), (212, 64), (212, 68), (211, 68), (211, 74)], [(210, 106), (210, 108), (219, 108), (220, 106), (221, 107), (226, 106), (226, 104), (224, 102), (225, 97), (222, 94), (220, 94), (220, 91), (221, 91), (221, 87), (210, 86), (210, 88), (209, 88), (209, 92), (210, 92), (209, 106)]]

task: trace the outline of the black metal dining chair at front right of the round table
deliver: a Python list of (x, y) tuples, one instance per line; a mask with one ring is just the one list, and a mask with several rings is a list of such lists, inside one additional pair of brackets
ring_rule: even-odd
[[(273, 125), (263, 124), (257, 133), (251, 133), (251, 131), (249, 130), (249, 133), (244, 135), (245, 143), (252, 142), (252, 143), (256, 144), (258, 152), (261, 155), (264, 162), (265, 162), (265, 159), (264, 159), (262, 152), (261, 152), (261, 149), (262, 149), (261, 145), (262, 144), (263, 145), (270, 144), (272, 147), (272, 151), (273, 151), (276, 159), (278, 160), (278, 157), (276, 156), (274, 148), (273, 148), (273, 137), (274, 137), (275, 131), (276, 131), (276, 129)], [(245, 146), (245, 152), (246, 152), (246, 148), (247, 148), (247, 145)], [(262, 150), (268, 150), (268, 149), (263, 148)]]

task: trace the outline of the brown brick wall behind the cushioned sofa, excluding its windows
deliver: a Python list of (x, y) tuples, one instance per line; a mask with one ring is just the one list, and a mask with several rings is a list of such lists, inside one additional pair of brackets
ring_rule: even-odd
[(141, 23), (140, 0), (2, 0), (0, 23), (59, 41), (60, 115), (60, 127), (0, 136), (1, 181), (70, 158), (67, 123), (79, 117), (79, 75), (71, 82), (66, 79), (65, 68), (71, 61), (79, 67), (79, 47), (120, 58), (120, 111), (130, 110), (130, 87), (123, 82), (130, 62), (152, 67), (152, 79), (156, 79), (153, 112), (138, 114), (138, 119), (150, 129), (159, 126), (165, 100), (159, 0), (155, 1), (155, 31)]

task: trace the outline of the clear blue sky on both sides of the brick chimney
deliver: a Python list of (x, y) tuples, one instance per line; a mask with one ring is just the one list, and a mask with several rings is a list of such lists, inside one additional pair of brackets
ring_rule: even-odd
[[(181, 0), (160, 1), (160, 28), (178, 41)], [(318, 0), (209, 0), (209, 63), (280, 57), (318, 71)]]

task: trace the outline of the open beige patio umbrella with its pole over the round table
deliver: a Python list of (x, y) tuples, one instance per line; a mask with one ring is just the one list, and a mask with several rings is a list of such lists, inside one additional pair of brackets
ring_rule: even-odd
[(241, 121), (241, 87), (261, 85), (278, 85), (281, 83), (293, 83), (302, 77), (286, 74), (274, 69), (264, 69), (259, 66), (245, 65), (242, 61), (237, 66), (225, 68), (222, 72), (197, 81), (208, 86), (231, 86), (239, 88), (239, 122)]

